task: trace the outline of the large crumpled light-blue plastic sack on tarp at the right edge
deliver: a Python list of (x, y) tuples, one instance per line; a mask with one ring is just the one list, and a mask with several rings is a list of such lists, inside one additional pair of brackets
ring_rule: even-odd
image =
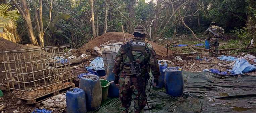
[(228, 70), (233, 74), (243, 74), (255, 70), (256, 67), (251, 65), (246, 59), (236, 59), (236, 63), (232, 70)]

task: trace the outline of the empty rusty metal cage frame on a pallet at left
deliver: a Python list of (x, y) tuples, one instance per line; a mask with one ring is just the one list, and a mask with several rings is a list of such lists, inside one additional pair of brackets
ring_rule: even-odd
[(17, 98), (35, 100), (73, 86), (69, 46), (48, 46), (0, 52), (7, 88)]

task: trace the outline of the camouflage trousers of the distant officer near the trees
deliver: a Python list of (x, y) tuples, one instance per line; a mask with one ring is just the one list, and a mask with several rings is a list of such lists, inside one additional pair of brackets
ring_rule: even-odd
[(210, 57), (217, 57), (219, 52), (219, 39), (218, 38), (211, 38), (210, 39), (210, 49), (209, 55)]

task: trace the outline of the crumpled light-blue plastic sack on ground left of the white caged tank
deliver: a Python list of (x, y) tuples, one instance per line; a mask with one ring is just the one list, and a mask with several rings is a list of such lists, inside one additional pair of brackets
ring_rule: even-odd
[(103, 58), (102, 57), (96, 57), (89, 66), (86, 67), (87, 70), (105, 70), (104, 68), (104, 63), (103, 63)]

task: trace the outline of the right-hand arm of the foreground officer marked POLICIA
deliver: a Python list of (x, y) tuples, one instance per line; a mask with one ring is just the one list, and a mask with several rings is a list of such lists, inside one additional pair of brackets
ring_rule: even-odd
[(158, 85), (158, 77), (160, 75), (159, 72), (159, 65), (158, 65), (158, 61), (156, 58), (156, 54), (154, 49), (152, 48), (151, 53), (150, 53), (150, 57), (149, 57), (149, 63), (150, 63), (150, 69), (151, 69), (151, 73), (154, 76), (154, 83), (156, 83), (156, 85)]

